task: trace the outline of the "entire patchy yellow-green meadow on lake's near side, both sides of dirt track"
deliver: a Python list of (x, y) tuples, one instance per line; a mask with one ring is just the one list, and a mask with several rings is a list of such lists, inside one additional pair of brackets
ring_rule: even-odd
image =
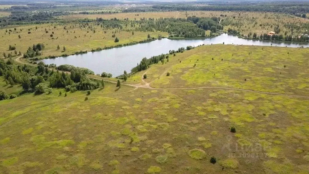
[[(169, 60), (151, 66), (147, 82), (163, 76), (150, 86), (309, 96), (306, 48), (218, 44)], [(308, 98), (111, 83), (86, 96), (53, 89), (0, 101), (0, 173), (308, 174)]]

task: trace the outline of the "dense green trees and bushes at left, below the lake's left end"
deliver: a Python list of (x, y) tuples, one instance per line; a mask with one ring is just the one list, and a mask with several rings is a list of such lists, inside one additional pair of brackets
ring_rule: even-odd
[[(53, 65), (52, 65), (53, 66)], [(101, 82), (90, 80), (82, 68), (72, 68), (71, 73), (49, 70), (49, 65), (39, 62), (37, 67), (18, 65), (9, 61), (0, 60), (0, 76), (3, 76), (7, 85), (21, 84), (24, 92), (50, 93), (51, 88), (65, 88), (67, 91), (96, 89)], [(0, 91), (0, 100), (8, 97), (5, 92)]]

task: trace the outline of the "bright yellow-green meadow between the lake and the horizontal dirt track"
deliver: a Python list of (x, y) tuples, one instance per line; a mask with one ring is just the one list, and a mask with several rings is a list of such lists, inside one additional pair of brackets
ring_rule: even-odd
[[(159, 78), (153, 87), (221, 86), (309, 95), (308, 61), (307, 48), (207, 45), (151, 67), (145, 81)], [(171, 75), (159, 77), (164, 71)]]

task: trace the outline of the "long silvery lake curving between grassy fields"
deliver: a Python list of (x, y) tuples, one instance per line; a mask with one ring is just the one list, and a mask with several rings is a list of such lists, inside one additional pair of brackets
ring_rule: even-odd
[(102, 72), (112, 73), (113, 77), (123, 74), (124, 70), (128, 73), (135, 67), (142, 58), (166, 54), (169, 50), (178, 50), (180, 47), (198, 46), (201, 44), (235, 44), (235, 45), (259, 45), (277, 47), (309, 47), (308, 43), (291, 43), (278, 41), (260, 41), (240, 39), (237, 36), (222, 34), (214, 38), (207, 39), (161, 39), (148, 43), (130, 45), (120, 48), (106, 49), (85, 54), (57, 57), (55, 59), (44, 59), (45, 64), (70, 64), (76, 67), (91, 69), (95, 74)]

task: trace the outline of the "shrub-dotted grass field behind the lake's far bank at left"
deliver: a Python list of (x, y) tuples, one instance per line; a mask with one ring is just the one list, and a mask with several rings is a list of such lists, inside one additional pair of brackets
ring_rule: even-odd
[[(36, 29), (36, 27), (38, 27), (38, 29)], [(9, 31), (10, 29), (12, 32)], [(46, 33), (45, 29), (48, 33)], [(6, 32), (6, 30), (8, 32)], [(28, 34), (29, 30), (31, 32), (30, 34)], [(93, 30), (95, 30), (95, 33)], [(106, 33), (104, 33), (104, 31), (106, 31)], [(113, 32), (115, 31), (115, 35), (119, 39), (119, 42), (114, 42), (115, 38), (112, 37)], [(52, 39), (50, 36), (52, 32), (54, 32), (53, 38), (55, 39)], [(9, 51), (9, 45), (15, 46), (17, 51), (26, 52), (28, 47), (32, 47), (33, 44), (43, 43), (45, 49), (41, 57), (49, 55), (59, 56), (62, 54), (72, 54), (74, 52), (79, 52), (80, 50), (91, 51), (92, 48), (104, 48), (105, 46), (126, 44), (133, 41), (138, 42), (147, 39), (148, 34), (150, 34), (151, 37), (158, 37), (159, 34), (162, 36), (168, 35), (166, 32), (160, 31), (135, 31), (134, 35), (132, 35), (132, 31), (118, 29), (103, 30), (100, 26), (93, 26), (91, 29), (88, 27), (81, 29), (78, 25), (73, 23), (67, 24), (66, 29), (64, 29), (64, 25), (60, 24), (22, 26), (16, 27), (16, 31), (13, 27), (0, 30), (0, 35), (2, 35), (0, 40), (2, 43), (5, 43), (0, 46), (0, 52), (12, 52)], [(20, 39), (18, 35), (21, 36)], [(60, 46), (59, 50), (57, 50), (58, 44)], [(65, 52), (62, 52), (63, 46), (66, 47)]]

